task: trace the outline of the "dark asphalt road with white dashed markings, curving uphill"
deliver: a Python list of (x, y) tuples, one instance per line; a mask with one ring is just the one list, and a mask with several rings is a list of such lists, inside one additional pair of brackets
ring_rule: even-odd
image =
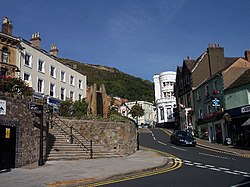
[(171, 172), (106, 186), (174, 186), (174, 187), (246, 187), (250, 186), (250, 159), (232, 154), (169, 143), (169, 135), (161, 129), (140, 133), (140, 145), (170, 153), (182, 161)]

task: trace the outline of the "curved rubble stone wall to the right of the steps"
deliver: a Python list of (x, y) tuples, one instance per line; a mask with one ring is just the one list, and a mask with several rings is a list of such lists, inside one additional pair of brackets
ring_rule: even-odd
[(93, 144), (101, 144), (109, 152), (125, 156), (137, 150), (137, 129), (134, 123), (62, 120), (92, 140)]

